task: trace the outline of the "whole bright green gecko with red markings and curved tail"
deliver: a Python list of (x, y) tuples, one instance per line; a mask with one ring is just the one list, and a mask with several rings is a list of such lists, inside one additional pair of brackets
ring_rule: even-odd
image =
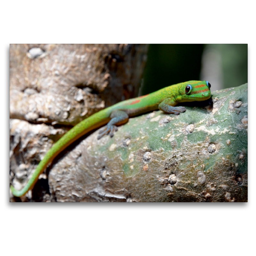
[(180, 112), (185, 112), (186, 108), (174, 106), (180, 102), (208, 100), (211, 97), (210, 88), (211, 84), (208, 81), (188, 81), (174, 84), (145, 96), (121, 101), (89, 116), (69, 130), (52, 146), (43, 160), (40, 161), (24, 188), (16, 190), (13, 186), (10, 187), (12, 194), (18, 197), (26, 194), (28, 190), (33, 188), (39, 175), (44, 171), (47, 165), (52, 162), (62, 150), (84, 134), (107, 124), (99, 131), (98, 140), (106, 134), (112, 137), (114, 131), (117, 131), (116, 125), (127, 123), (131, 116), (137, 116), (157, 109), (168, 114), (179, 115)]

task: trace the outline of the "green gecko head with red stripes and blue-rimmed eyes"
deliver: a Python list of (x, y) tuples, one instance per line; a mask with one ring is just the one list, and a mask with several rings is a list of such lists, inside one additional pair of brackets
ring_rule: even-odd
[[(179, 102), (203, 101), (211, 98), (211, 84), (208, 81), (188, 81), (182, 83)], [(180, 101), (181, 100), (181, 101)]]

